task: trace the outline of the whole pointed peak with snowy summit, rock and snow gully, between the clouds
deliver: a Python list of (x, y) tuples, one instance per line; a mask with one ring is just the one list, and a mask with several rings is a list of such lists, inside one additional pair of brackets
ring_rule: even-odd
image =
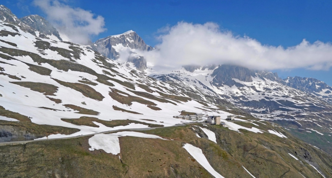
[(92, 45), (92, 48), (113, 60), (118, 60), (120, 53), (122, 53), (122, 59), (118, 62), (126, 63), (127, 66), (132, 64), (132, 67), (140, 71), (147, 68), (146, 60), (143, 56), (137, 54), (136, 50), (150, 51), (153, 49), (145, 44), (144, 40), (132, 30), (99, 39)]

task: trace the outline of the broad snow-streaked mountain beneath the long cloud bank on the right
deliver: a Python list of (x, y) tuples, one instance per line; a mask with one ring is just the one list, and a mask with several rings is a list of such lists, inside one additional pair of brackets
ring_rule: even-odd
[(292, 80), (285, 82), (276, 73), (239, 66), (213, 67), (184, 66), (170, 74), (153, 77), (216, 93), (261, 119), (332, 132), (332, 106), (315, 95), (287, 86)]

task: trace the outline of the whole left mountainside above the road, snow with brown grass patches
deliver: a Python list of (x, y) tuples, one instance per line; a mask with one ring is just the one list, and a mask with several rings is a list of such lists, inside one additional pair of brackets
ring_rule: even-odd
[[(230, 114), (217, 111), (214, 103), (200, 99), (203, 96), (190, 98), (177, 87), (139, 74), (87, 47), (36, 38), (6, 25), (0, 22), (0, 106), (19, 113), (25, 121), (76, 128), (81, 131), (75, 135), (80, 135), (112, 130), (98, 120), (157, 121), (171, 126), (190, 122), (173, 118), (181, 110), (223, 117)], [(63, 121), (91, 115), (99, 128)], [(2, 115), (0, 120), (20, 118)]]

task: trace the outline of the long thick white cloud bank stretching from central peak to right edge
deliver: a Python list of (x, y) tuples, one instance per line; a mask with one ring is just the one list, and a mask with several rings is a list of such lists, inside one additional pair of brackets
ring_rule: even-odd
[(328, 70), (332, 66), (331, 43), (303, 39), (287, 48), (263, 45), (248, 36), (222, 31), (214, 23), (179, 22), (166, 30), (158, 37), (161, 43), (156, 50), (144, 54), (156, 66), (232, 64), (257, 70)]

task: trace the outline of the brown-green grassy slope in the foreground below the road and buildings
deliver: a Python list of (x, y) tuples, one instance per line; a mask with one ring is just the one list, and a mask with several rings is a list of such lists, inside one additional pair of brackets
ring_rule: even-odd
[[(272, 126), (260, 124), (260, 129)], [(204, 127), (200, 125), (201, 127)], [(332, 176), (332, 157), (292, 137), (269, 133), (241, 133), (218, 125), (208, 126), (216, 134), (217, 144), (209, 141), (198, 127), (178, 126), (141, 131), (169, 140), (120, 137), (121, 153), (88, 150), (88, 139), (40, 141), (25, 145), (1, 146), (0, 177), (39, 175), (40, 177), (211, 177), (182, 148), (190, 143), (203, 150), (211, 166), (224, 177), (320, 177), (308, 163), (318, 167), (326, 177)], [(248, 125), (248, 127), (250, 127)], [(195, 135), (197, 132), (201, 137)], [(173, 140), (170, 140), (173, 139)], [(288, 153), (300, 160), (295, 160)]]

